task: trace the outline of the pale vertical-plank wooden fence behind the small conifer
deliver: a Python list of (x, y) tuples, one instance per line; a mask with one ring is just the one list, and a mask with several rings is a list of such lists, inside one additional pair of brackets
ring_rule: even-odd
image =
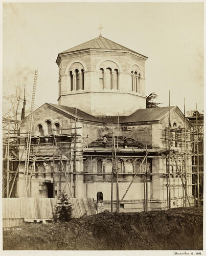
[[(57, 202), (56, 198), (3, 198), (3, 227), (51, 221)], [(73, 218), (96, 214), (93, 198), (71, 198), (70, 203)]]

